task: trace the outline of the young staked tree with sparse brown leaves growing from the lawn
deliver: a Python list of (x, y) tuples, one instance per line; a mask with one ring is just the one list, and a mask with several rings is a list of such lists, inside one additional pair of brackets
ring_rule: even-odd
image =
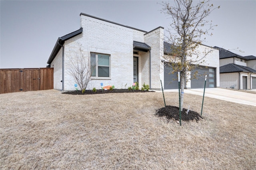
[[(162, 2), (162, 10), (172, 21), (168, 28), (169, 35), (166, 41), (170, 43), (170, 53), (166, 58), (174, 72), (180, 71), (181, 86), (181, 110), (183, 109), (184, 87), (188, 79), (196, 77), (191, 74), (191, 70), (195, 69), (200, 63), (205, 62), (204, 57), (211, 50), (198, 50), (205, 35), (209, 33), (214, 26), (212, 21), (206, 20), (206, 17), (216, 9), (213, 4), (207, 1), (199, 1), (197, 4), (193, 0), (174, 0), (174, 6), (170, 6), (168, 2)], [(190, 78), (188, 78), (190, 77)]]

